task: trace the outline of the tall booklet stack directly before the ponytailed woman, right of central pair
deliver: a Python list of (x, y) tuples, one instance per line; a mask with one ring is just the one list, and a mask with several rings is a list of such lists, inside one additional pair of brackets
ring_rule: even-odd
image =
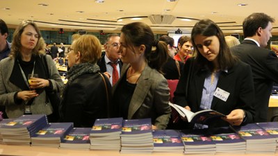
[(151, 119), (124, 120), (120, 153), (152, 153), (154, 148)]

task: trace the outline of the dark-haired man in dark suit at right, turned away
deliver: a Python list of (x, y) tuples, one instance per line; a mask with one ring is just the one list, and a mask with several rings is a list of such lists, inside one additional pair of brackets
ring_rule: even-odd
[(265, 49), (270, 40), (272, 17), (253, 13), (243, 21), (245, 40), (231, 51), (243, 62), (250, 64), (254, 78), (256, 115), (254, 122), (267, 121), (268, 102), (273, 82), (278, 83), (278, 58), (273, 51)]

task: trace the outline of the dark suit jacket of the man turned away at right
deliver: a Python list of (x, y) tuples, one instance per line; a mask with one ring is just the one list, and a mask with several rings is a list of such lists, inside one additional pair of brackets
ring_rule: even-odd
[(251, 40), (243, 40), (242, 44), (234, 46), (231, 51), (252, 68), (256, 101), (254, 120), (266, 122), (273, 82), (278, 83), (277, 55), (273, 51), (260, 48)]

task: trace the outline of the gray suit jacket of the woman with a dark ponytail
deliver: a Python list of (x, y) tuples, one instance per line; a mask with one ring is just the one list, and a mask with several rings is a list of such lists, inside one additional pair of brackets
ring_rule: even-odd
[[(130, 64), (124, 64), (120, 80), (113, 86), (113, 93), (129, 69)], [(165, 129), (170, 118), (169, 87), (164, 76), (146, 65), (134, 90), (129, 105), (128, 119), (151, 118), (152, 124), (158, 129)]]

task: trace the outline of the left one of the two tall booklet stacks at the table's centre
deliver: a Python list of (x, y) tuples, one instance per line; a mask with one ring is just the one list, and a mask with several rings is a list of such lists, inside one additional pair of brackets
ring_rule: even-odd
[(122, 118), (96, 119), (90, 131), (91, 150), (120, 150)]

